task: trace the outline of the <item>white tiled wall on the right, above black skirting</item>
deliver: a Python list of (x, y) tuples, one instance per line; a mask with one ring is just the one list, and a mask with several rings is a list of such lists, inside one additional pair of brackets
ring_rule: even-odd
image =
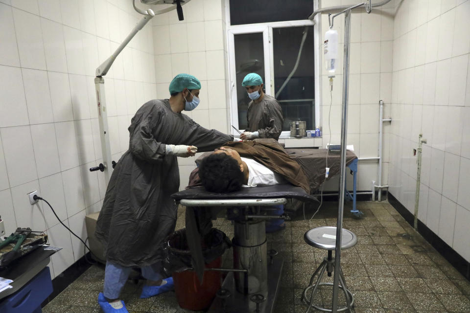
[[(401, 2), (394, 19), (390, 138), (392, 149), (409, 149), (406, 140), (416, 146), (419, 132), (427, 140), (419, 219), (467, 261), (470, 246), (462, 238), (467, 237), (464, 225), (470, 210), (470, 128), (466, 122), (470, 118), (466, 107), (470, 103), (469, 10), (470, 1)], [(410, 57), (413, 49), (414, 57)], [(412, 101), (408, 102), (410, 93)], [(404, 104), (401, 110), (394, 109), (400, 104)], [(398, 181), (393, 181), (390, 190), (406, 205), (410, 198), (395, 186), (411, 188), (405, 173), (409, 170), (413, 175), (416, 165), (391, 151), (389, 176)]]

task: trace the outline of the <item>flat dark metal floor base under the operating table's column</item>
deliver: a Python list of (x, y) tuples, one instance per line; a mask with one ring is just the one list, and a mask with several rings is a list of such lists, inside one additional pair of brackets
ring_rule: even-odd
[[(274, 301), (281, 284), (282, 258), (274, 258), (273, 264), (268, 262), (268, 291), (258, 292), (266, 297), (266, 301), (259, 304), (259, 313), (272, 313)], [(243, 294), (235, 288), (234, 273), (230, 272), (225, 278), (222, 289), (230, 291), (230, 296), (221, 299), (215, 298), (208, 313), (252, 313), (256, 311), (256, 303), (250, 300), (252, 294)]]

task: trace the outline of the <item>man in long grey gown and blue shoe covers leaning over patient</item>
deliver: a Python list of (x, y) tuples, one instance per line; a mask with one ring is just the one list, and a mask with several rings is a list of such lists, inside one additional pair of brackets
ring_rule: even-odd
[(161, 273), (162, 246), (176, 225), (179, 190), (177, 156), (212, 151), (233, 136), (208, 130), (183, 110), (199, 103), (201, 83), (188, 74), (170, 83), (171, 97), (145, 103), (129, 126), (129, 150), (119, 159), (106, 190), (96, 224), (96, 237), (106, 255), (104, 291), (98, 303), (105, 313), (127, 313), (119, 294), (132, 267), (147, 279), (141, 298), (168, 291), (172, 278)]

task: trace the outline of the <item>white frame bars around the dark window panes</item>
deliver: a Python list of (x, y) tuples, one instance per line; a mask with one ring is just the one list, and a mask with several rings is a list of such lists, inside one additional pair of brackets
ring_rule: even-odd
[[(318, 0), (313, 0), (314, 10), (318, 9)], [(320, 88), (321, 88), (321, 72), (320, 72), (320, 53), (319, 47), (321, 46), (320, 40), (320, 15), (315, 15), (313, 20), (299, 20), (299, 21), (284, 21), (284, 22), (264, 22), (254, 24), (230, 25), (230, 0), (225, 0), (225, 21), (226, 21), (226, 40), (227, 40), (227, 67), (228, 67), (228, 103), (230, 111), (230, 122), (235, 128), (238, 129), (238, 101), (237, 101), (237, 88), (236, 86), (236, 67), (235, 67), (235, 35), (262, 33), (263, 34), (263, 48), (264, 48), (264, 88), (267, 94), (274, 95), (274, 48), (273, 48), (273, 28), (284, 27), (298, 27), (298, 26), (313, 26), (314, 36), (314, 85), (315, 85), (315, 125), (314, 127), (321, 127), (321, 101), (320, 101)], [(269, 82), (269, 83), (268, 83)], [(233, 135), (239, 135), (230, 127)], [(241, 130), (243, 132), (244, 130)], [(290, 137), (289, 131), (283, 131), (281, 137)]]

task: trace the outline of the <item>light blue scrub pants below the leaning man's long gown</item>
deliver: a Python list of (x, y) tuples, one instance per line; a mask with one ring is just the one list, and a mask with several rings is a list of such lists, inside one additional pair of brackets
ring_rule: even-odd
[[(142, 276), (147, 280), (157, 281), (163, 278), (160, 274), (162, 264), (160, 262), (141, 267)], [(118, 299), (124, 284), (129, 277), (132, 268), (106, 262), (104, 271), (104, 291), (103, 295), (108, 299)]]

